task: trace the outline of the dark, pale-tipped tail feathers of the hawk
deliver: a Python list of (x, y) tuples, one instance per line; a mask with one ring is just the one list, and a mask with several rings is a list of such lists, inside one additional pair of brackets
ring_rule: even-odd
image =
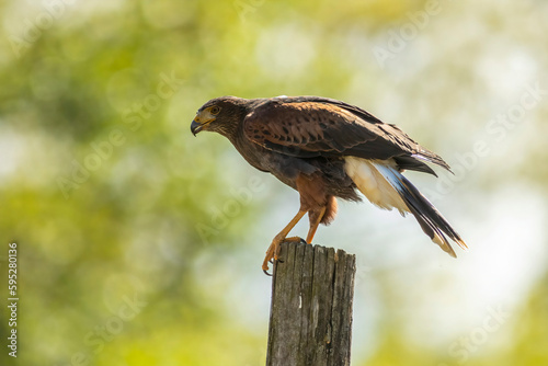
[(456, 258), (447, 238), (455, 241), (460, 248), (468, 249), (460, 236), (450, 227), (449, 222), (439, 211), (424, 197), (411, 182), (400, 174), (401, 190), (398, 192), (406, 202), (411, 214), (414, 215), (422, 230), (438, 244), (450, 256)]

